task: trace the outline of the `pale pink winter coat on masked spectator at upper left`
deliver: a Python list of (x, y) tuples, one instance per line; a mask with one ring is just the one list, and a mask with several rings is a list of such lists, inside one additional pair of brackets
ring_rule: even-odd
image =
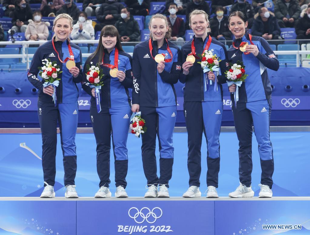
[(31, 35), (38, 35), (39, 40), (47, 40), (49, 34), (48, 26), (50, 26), (49, 22), (34, 22), (29, 20), (29, 24), (25, 32), (26, 40), (30, 40)]

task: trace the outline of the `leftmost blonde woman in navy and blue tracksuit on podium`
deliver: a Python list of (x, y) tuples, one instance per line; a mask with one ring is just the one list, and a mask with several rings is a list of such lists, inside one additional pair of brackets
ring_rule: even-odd
[[(37, 49), (28, 73), (29, 82), (39, 90), (38, 117), (42, 132), (42, 166), (45, 184), (41, 197), (47, 198), (55, 197), (57, 121), (64, 157), (64, 185), (67, 188), (65, 197), (78, 197), (74, 183), (77, 170), (75, 133), (78, 127), (76, 83), (82, 81), (82, 53), (80, 48), (69, 40), (72, 22), (68, 14), (60, 14), (54, 19), (55, 36)], [(44, 80), (41, 81), (41, 77), (38, 77), (38, 67), (42, 66), (44, 59), (56, 61), (62, 71), (58, 75), (61, 80), (56, 88), (57, 102), (55, 103), (52, 98), (53, 87), (51, 85), (43, 87)], [(75, 66), (67, 69), (66, 62), (71, 62), (73, 59)]]

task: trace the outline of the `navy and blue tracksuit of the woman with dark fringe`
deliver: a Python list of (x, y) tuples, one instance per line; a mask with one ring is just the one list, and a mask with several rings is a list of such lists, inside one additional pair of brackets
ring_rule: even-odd
[[(110, 149), (111, 133), (114, 152), (115, 185), (126, 188), (128, 170), (127, 137), (129, 118), (131, 116), (131, 99), (128, 88), (132, 87), (131, 56), (118, 51), (118, 70), (124, 71), (126, 77), (119, 82), (118, 78), (110, 76), (110, 69), (101, 65), (103, 69), (103, 84), (100, 94), (101, 111), (98, 113), (95, 98), (91, 94), (92, 88), (87, 86), (86, 65), (93, 62), (96, 65), (102, 60), (99, 55), (88, 57), (83, 70), (83, 89), (91, 95), (90, 118), (97, 143), (97, 173), (100, 178), (99, 187), (109, 187), (110, 181)], [(108, 53), (104, 49), (104, 63), (114, 65), (115, 49)]]

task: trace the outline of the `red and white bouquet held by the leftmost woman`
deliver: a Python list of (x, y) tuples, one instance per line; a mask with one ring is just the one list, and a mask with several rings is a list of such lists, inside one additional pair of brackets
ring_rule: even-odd
[(56, 107), (57, 105), (56, 87), (58, 87), (60, 80), (60, 78), (58, 78), (58, 74), (62, 73), (62, 71), (60, 71), (57, 62), (56, 61), (51, 62), (49, 58), (42, 60), (42, 64), (43, 64), (42, 67), (38, 67), (38, 69), (40, 69), (39, 75), (45, 81), (43, 83), (43, 87), (47, 87), (49, 85), (53, 86), (54, 93), (52, 97)]

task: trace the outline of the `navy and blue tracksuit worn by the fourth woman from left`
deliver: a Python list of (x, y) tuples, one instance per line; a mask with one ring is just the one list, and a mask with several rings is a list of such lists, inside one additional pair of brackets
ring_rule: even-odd
[[(193, 37), (196, 54), (202, 54), (210, 35), (203, 41), (202, 38)], [(181, 48), (182, 62), (191, 53), (192, 41)], [(213, 51), (222, 61), (219, 63), (219, 76), (217, 76), (217, 92), (214, 91), (215, 83), (205, 91), (204, 74), (201, 65), (196, 59), (189, 69), (188, 75), (184, 73), (180, 81), (185, 83), (184, 88), (184, 117), (188, 132), (188, 172), (189, 186), (200, 186), (201, 174), (201, 141), (204, 132), (207, 141), (207, 186), (218, 187), (219, 174), (219, 133), (223, 114), (223, 89), (226, 82), (224, 72), (227, 70), (227, 51), (224, 44), (212, 38), (208, 50)], [(214, 72), (215, 73), (215, 72)]]

